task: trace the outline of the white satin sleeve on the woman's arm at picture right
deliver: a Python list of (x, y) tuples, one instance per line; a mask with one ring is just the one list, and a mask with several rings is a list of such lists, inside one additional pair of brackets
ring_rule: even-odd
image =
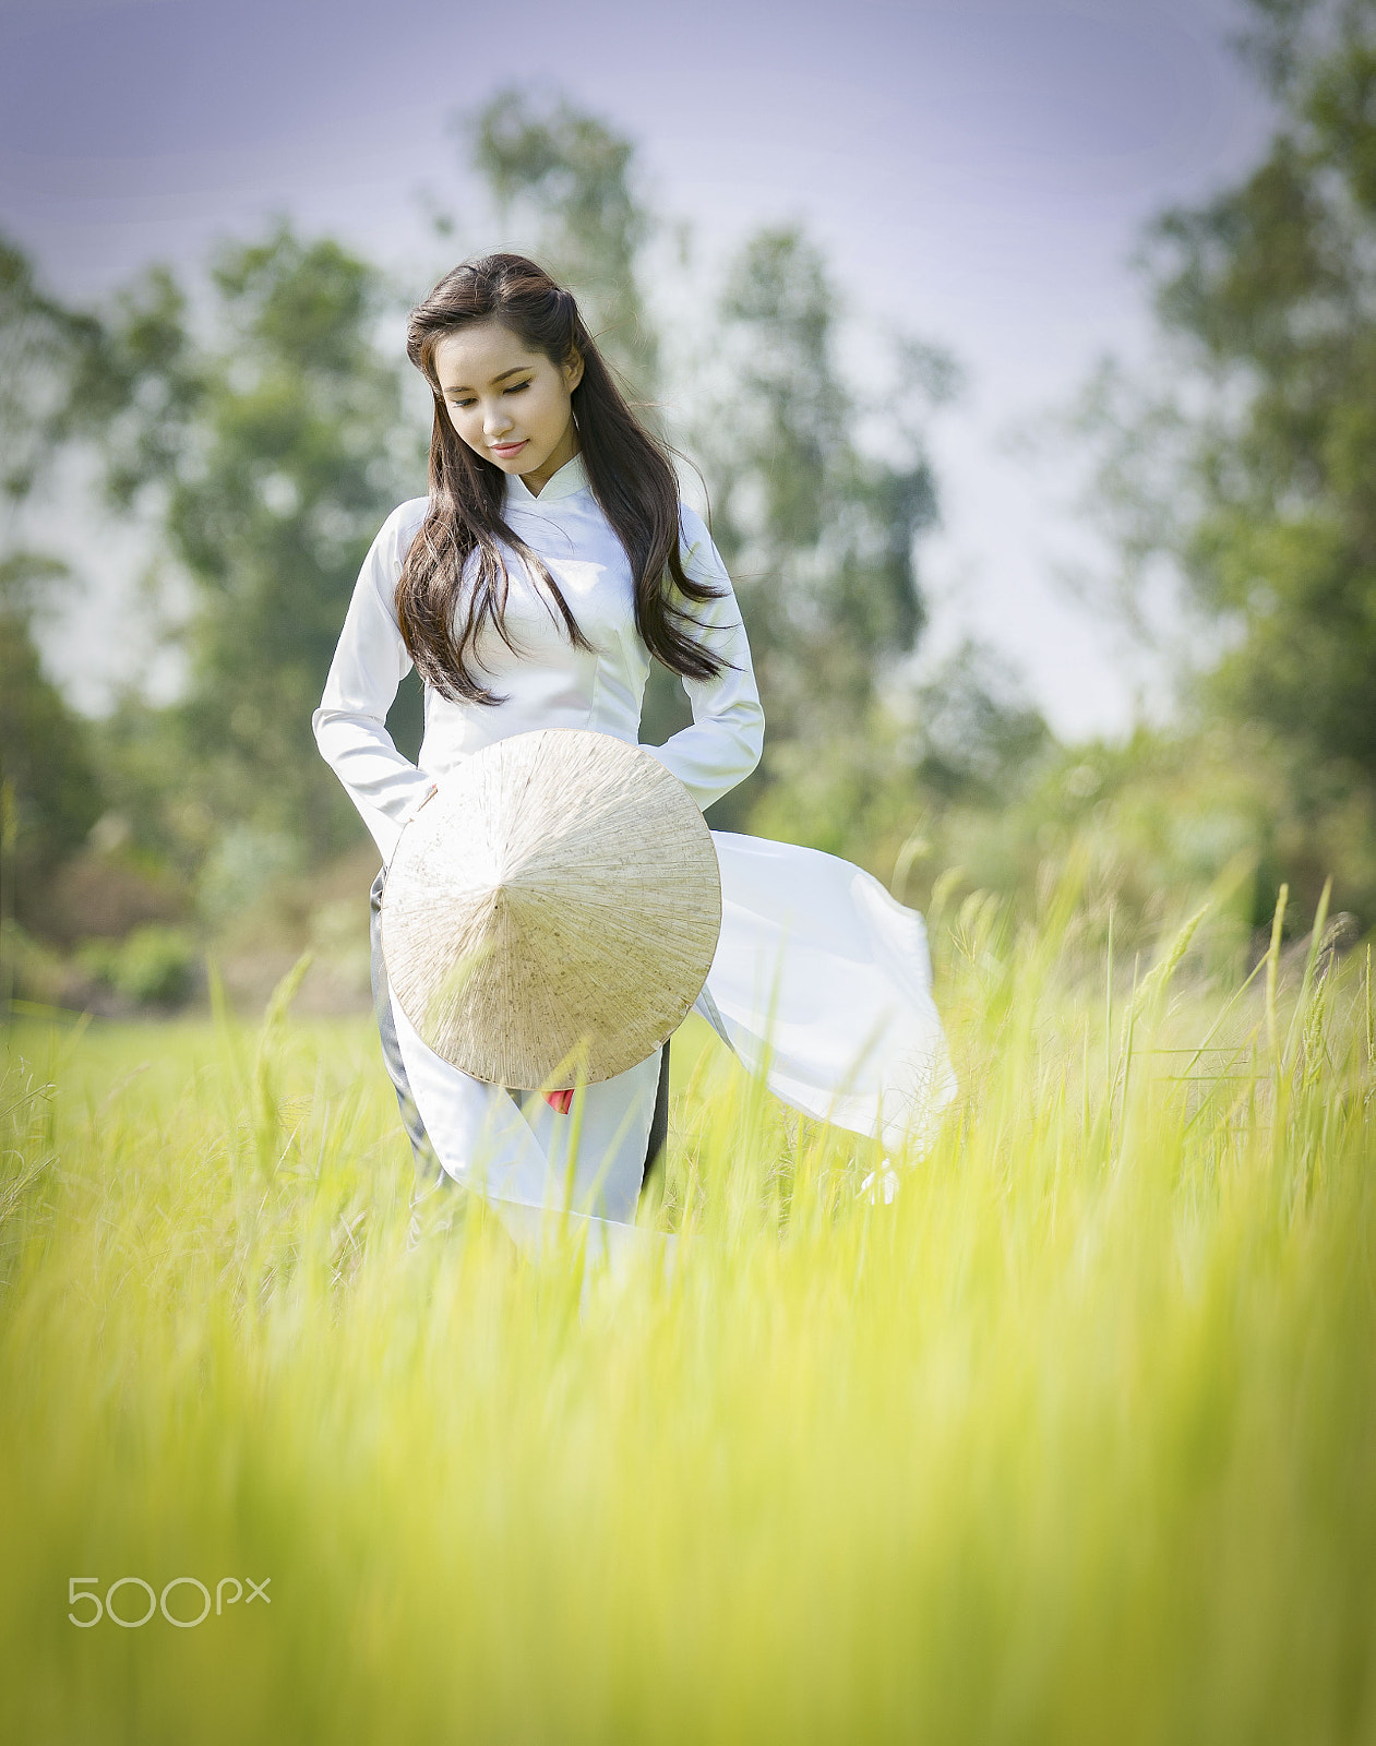
[(685, 679), (693, 705), (691, 728), (679, 728), (664, 746), (646, 746), (676, 775), (704, 810), (721, 800), (760, 763), (765, 746), (765, 711), (754, 683), (751, 646), (740, 608), (721, 562), (721, 553), (700, 515), (686, 505), (683, 519), (683, 567), (693, 581), (711, 581), (721, 590), (716, 601), (686, 601), (702, 625), (690, 632), (725, 665), (714, 679)]

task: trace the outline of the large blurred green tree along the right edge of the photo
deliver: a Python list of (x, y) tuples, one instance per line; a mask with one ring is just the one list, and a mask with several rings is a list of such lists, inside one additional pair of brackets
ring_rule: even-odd
[(1256, 10), (1285, 120), (1154, 227), (1163, 323), (1243, 402), (1201, 433), (1182, 553), (1240, 627), (1212, 693), (1376, 782), (1376, 5)]

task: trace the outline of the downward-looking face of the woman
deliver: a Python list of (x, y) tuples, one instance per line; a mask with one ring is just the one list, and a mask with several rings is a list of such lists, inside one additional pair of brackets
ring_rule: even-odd
[(576, 353), (559, 368), (492, 320), (445, 333), (433, 358), (454, 430), (503, 473), (519, 473), (540, 492), (578, 454), (569, 403), (583, 379)]

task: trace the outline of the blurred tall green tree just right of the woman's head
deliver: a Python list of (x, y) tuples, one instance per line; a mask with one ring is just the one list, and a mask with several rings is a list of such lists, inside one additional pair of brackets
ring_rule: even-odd
[[(747, 239), (719, 321), (721, 405), (695, 447), (770, 732), (761, 772), (728, 800), (744, 817), (770, 782), (814, 779), (819, 758), (854, 775), (856, 742), (875, 739), (877, 686), (925, 623), (915, 543), (938, 522), (938, 489), (922, 424), (957, 372), (936, 347), (899, 342), (885, 391), (861, 400), (836, 361), (836, 292), (796, 227)], [(880, 421), (887, 459), (857, 447), (864, 421)]]

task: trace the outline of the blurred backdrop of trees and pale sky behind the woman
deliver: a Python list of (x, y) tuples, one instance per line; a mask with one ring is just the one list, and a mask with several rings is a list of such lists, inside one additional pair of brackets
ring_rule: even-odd
[[(0, 1000), (365, 1009), (309, 732), (424, 489), (405, 309), (566, 274), (768, 716), (723, 828), (1376, 918), (1376, 7), (0, 9)], [(685, 719), (657, 674), (644, 737)], [(391, 718), (419, 746), (412, 679)], [(1229, 931), (1231, 929), (1231, 931)]]

